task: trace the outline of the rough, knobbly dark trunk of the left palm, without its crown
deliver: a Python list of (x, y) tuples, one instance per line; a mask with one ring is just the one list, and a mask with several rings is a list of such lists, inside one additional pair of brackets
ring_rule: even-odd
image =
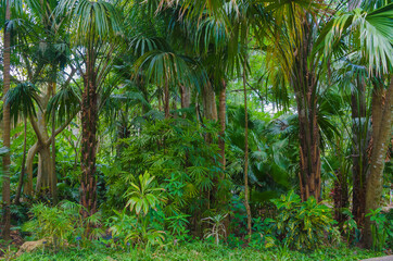
[(96, 72), (88, 59), (81, 101), (81, 182), (80, 204), (84, 217), (97, 211), (96, 148), (97, 148), (97, 86)]

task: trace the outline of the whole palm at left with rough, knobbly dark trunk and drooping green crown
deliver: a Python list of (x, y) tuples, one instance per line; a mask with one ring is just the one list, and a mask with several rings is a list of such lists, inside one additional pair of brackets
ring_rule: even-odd
[(69, 17), (64, 23), (75, 28), (73, 50), (78, 57), (75, 66), (83, 77), (80, 203), (87, 217), (97, 211), (98, 99), (114, 61), (114, 52), (121, 47), (119, 12), (106, 1), (63, 0), (56, 15)]

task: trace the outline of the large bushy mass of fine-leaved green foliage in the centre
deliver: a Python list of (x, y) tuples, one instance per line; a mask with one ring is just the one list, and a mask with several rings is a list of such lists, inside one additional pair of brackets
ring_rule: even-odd
[[(165, 189), (162, 195), (167, 199), (164, 204), (166, 216), (201, 210), (205, 203), (203, 194), (212, 189), (213, 181), (221, 174), (217, 145), (207, 145), (204, 140), (204, 136), (214, 135), (215, 127), (207, 122), (203, 127), (189, 120), (172, 119), (148, 122), (140, 135), (123, 139), (122, 158), (107, 172), (107, 203), (122, 209), (126, 201), (121, 201), (118, 195), (126, 195), (137, 177), (148, 172)], [(219, 190), (224, 190), (225, 185), (226, 181), (218, 184)], [(138, 209), (144, 206), (134, 200), (128, 202)]]

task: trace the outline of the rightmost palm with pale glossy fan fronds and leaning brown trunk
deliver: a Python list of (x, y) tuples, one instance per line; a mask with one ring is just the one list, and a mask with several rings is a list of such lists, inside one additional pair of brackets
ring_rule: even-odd
[[(335, 17), (330, 24), (331, 27), (325, 40), (326, 52), (328, 52), (328, 49), (338, 45), (344, 36), (354, 35), (355, 51), (360, 58), (362, 65), (368, 69), (368, 82), (371, 82), (373, 87), (371, 97), (372, 150), (369, 159), (367, 159), (370, 162), (370, 167), (367, 169), (365, 177), (366, 195), (364, 201), (360, 202), (364, 206), (362, 215), (380, 207), (384, 159), (389, 147), (388, 139), (392, 129), (393, 29), (391, 27), (391, 10), (393, 4), (386, 4), (386, 2), (382, 1), (385, 5), (380, 7), (379, 2), (367, 1), (364, 3), (365, 10), (357, 9)], [(371, 247), (372, 238), (369, 219), (366, 219), (365, 224), (365, 243), (368, 247)]]

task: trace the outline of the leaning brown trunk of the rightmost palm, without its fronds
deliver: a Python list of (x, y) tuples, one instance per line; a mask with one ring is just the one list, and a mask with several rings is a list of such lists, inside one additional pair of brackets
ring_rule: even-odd
[[(384, 103), (384, 104), (383, 104)], [(389, 139), (392, 137), (393, 122), (393, 78), (385, 92), (383, 102), (383, 90), (373, 88), (372, 94), (372, 151), (370, 159), (370, 173), (366, 185), (366, 213), (381, 206), (383, 170), (389, 148)], [(367, 247), (372, 246), (371, 222), (365, 221), (365, 243)]]

